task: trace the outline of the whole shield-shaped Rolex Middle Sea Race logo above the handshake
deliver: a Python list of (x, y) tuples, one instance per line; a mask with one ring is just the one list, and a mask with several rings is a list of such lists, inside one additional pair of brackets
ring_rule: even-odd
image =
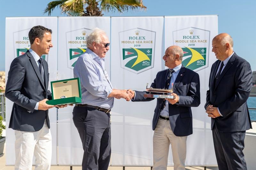
[(141, 28), (119, 32), (121, 67), (136, 74), (153, 68), (155, 35)]

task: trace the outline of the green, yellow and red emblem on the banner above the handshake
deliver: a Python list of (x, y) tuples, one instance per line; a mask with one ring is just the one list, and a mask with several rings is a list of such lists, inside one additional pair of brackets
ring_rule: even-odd
[(151, 65), (152, 48), (123, 48), (123, 60), (130, 59), (124, 66), (139, 71)]

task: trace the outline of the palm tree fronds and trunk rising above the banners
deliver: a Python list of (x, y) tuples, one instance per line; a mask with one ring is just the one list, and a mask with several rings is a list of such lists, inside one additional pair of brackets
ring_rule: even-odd
[(44, 13), (50, 16), (55, 7), (60, 7), (61, 13), (64, 12), (68, 16), (103, 16), (102, 11), (117, 10), (122, 13), (129, 9), (147, 8), (142, 4), (142, 0), (58, 0), (47, 4)]

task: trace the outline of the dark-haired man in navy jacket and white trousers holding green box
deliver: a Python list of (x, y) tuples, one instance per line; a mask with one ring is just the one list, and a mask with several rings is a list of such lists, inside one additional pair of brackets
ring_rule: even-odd
[[(15, 58), (10, 66), (5, 96), (13, 101), (9, 128), (15, 132), (15, 169), (49, 170), (52, 158), (52, 136), (46, 104), (52, 99), (48, 89), (47, 62), (41, 58), (52, 45), (52, 30), (34, 26), (28, 33), (31, 48)], [(66, 107), (60, 106), (60, 107)]]

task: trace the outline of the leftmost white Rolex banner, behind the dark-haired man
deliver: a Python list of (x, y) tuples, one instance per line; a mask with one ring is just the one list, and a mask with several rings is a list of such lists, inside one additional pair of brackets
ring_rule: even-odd
[[(29, 48), (30, 43), (28, 39), (28, 32), (33, 26), (41, 25), (52, 30), (52, 44), (49, 55), (43, 55), (42, 57), (48, 62), (49, 67), (49, 87), (50, 82), (56, 80), (57, 73), (57, 17), (26, 17), (26, 18), (6, 18), (6, 32), (5, 32), (5, 74), (7, 82), (8, 71), (12, 60), (24, 54)], [(51, 88), (49, 88), (51, 90)], [(12, 112), (12, 104), (10, 100), (6, 98), (6, 165), (14, 165), (15, 163), (15, 151), (14, 151), (14, 130), (9, 129), (10, 116)], [(50, 126), (52, 133), (52, 165), (57, 164), (57, 115), (56, 108), (49, 110)]]

